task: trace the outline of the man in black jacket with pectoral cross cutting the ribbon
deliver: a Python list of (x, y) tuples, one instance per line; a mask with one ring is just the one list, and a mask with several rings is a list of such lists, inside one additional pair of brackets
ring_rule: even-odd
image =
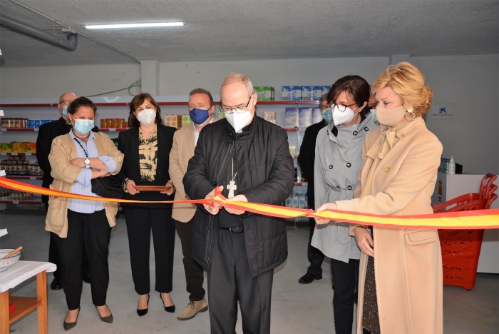
[[(225, 119), (200, 133), (183, 179), (189, 198), (279, 205), (292, 192), (287, 133), (255, 115), (257, 93), (245, 74), (220, 88)], [(212, 333), (235, 333), (237, 301), (244, 333), (270, 333), (274, 268), (287, 258), (284, 221), (215, 203), (194, 216), (192, 257), (207, 271)]]

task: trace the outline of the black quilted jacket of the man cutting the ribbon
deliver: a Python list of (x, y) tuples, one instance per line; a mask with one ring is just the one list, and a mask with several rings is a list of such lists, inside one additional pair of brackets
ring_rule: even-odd
[[(294, 186), (294, 167), (287, 133), (256, 115), (242, 133), (235, 133), (225, 118), (202, 129), (183, 178), (187, 196), (205, 198), (219, 185), (224, 173), (230, 171), (234, 150), (239, 194), (244, 194), (249, 202), (273, 205), (281, 204), (289, 196)], [(287, 258), (284, 221), (248, 212), (241, 218), (252, 277), (283, 263)], [(209, 270), (215, 233), (220, 231), (217, 216), (199, 205), (193, 221), (192, 258)]]

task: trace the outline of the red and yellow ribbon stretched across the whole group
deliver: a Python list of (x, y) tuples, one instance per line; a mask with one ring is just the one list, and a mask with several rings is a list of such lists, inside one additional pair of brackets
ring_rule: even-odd
[(0, 186), (16, 191), (26, 191), (38, 193), (46, 196), (76, 198), (90, 201), (103, 201), (115, 203), (192, 203), (210, 205), (217, 203), (227, 208), (249, 211), (264, 216), (279, 218), (298, 218), (298, 217), (320, 217), (329, 218), (331, 221), (340, 221), (347, 223), (357, 223), (369, 226), (384, 226), (389, 228), (439, 228), (439, 229), (492, 229), (499, 228), (499, 209), (458, 211), (448, 213), (433, 213), (426, 215), (411, 216), (391, 216), (374, 215), (370, 213), (356, 213), (349, 211), (322, 211), (315, 212), (311, 209), (289, 208), (284, 206), (273, 206), (262, 203), (235, 202), (227, 201), (227, 198), (217, 194), (212, 199), (185, 200), (185, 201), (133, 201), (116, 198), (103, 198), (95, 196), (78, 195), (56, 191), (53, 189), (42, 188), (19, 181), (0, 177)]

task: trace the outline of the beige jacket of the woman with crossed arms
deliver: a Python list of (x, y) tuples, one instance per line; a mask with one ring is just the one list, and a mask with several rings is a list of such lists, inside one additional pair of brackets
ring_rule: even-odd
[[(118, 173), (123, 163), (123, 153), (118, 151), (113, 141), (105, 133), (94, 132), (93, 134), (96, 136), (94, 143), (98, 155), (113, 158), (117, 167), (113, 174)], [(73, 158), (77, 158), (77, 151), (75, 142), (71, 140), (69, 134), (56, 137), (48, 154), (48, 161), (50, 161), (52, 167), (51, 176), (54, 178), (50, 185), (51, 189), (71, 193), (71, 187), (81, 172), (81, 167), (69, 163)], [(118, 203), (104, 202), (104, 209), (106, 210), (109, 226), (115, 226)], [(53, 196), (48, 198), (45, 229), (56, 233), (61, 238), (68, 236), (68, 198)]]

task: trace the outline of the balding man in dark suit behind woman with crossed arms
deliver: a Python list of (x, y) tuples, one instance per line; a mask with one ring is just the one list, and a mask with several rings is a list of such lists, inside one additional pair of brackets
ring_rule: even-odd
[[(41, 186), (43, 188), (48, 188), (53, 181), (51, 176), (52, 168), (50, 162), (48, 162), (48, 153), (50, 153), (52, 141), (63, 134), (71, 131), (73, 126), (68, 119), (67, 108), (69, 104), (76, 99), (76, 94), (71, 92), (66, 92), (59, 97), (59, 103), (57, 108), (59, 109), (60, 118), (57, 121), (51, 121), (45, 123), (38, 129), (38, 137), (36, 138), (36, 159), (38, 160), (38, 165), (43, 171), (43, 178)], [(98, 128), (93, 128), (94, 132), (98, 131)], [(41, 196), (41, 201), (45, 204), (45, 209), (48, 208), (48, 196)], [(59, 254), (57, 251), (56, 243), (53, 241), (54, 233), (50, 233), (50, 246), (48, 247), (48, 262), (59, 265)], [(83, 280), (86, 283), (90, 283), (90, 275), (88, 273), (88, 260), (86, 259), (85, 252), (83, 252)], [(61, 290), (62, 285), (59, 281), (58, 270), (53, 272), (53, 281), (50, 285), (52, 290)]]

